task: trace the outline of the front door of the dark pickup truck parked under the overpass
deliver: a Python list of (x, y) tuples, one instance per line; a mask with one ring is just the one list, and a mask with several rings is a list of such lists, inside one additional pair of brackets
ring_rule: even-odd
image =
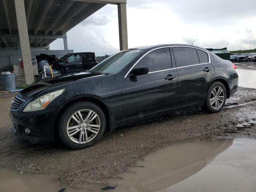
[(65, 60), (66, 73), (77, 73), (83, 71), (82, 54), (71, 54)]

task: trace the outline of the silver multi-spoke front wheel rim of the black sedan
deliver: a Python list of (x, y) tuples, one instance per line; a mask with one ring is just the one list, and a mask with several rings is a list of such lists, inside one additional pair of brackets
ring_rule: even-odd
[(89, 109), (78, 110), (69, 118), (66, 131), (73, 142), (88, 143), (100, 131), (100, 117), (96, 112)]

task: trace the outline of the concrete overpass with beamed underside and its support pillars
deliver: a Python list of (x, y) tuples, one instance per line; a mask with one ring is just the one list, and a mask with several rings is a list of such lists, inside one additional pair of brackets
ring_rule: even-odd
[(120, 50), (128, 48), (126, 0), (0, 0), (0, 46), (21, 50), (26, 84), (34, 82), (30, 48), (47, 47), (106, 4), (118, 9)]

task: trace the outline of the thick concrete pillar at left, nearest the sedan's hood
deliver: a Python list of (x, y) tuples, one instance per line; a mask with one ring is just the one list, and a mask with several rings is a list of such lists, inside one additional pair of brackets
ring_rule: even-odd
[(24, 0), (14, 0), (26, 84), (34, 82)]

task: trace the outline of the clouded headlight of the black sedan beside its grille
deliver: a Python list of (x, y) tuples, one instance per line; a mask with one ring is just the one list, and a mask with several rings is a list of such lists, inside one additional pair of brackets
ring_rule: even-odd
[(31, 112), (45, 109), (51, 101), (53, 101), (56, 97), (61, 95), (65, 89), (61, 89), (58, 91), (54, 91), (48, 94), (45, 94), (31, 102), (29, 102), (22, 112)]

